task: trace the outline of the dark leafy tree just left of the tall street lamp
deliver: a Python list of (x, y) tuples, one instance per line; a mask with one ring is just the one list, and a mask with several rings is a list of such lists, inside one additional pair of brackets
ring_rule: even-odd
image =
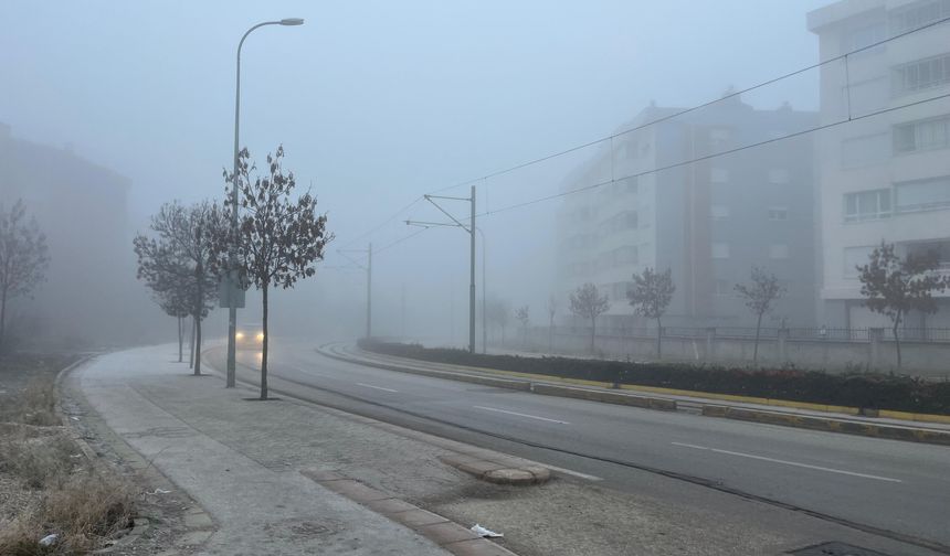
[[(228, 233), (226, 214), (209, 201), (191, 206), (175, 201), (152, 215), (150, 227), (157, 238), (139, 234), (133, 240), (138, 277), (169, 306), (180, 302), (187, 307), (194, 322), (193, 370), (200, 375), (201, 321), (208, 317), (217, 295), (222, 268), (219, 239)], [(161, 301), (159, 304), (168, 312)], [(180, 336), (179, 331), (179, 356)]]

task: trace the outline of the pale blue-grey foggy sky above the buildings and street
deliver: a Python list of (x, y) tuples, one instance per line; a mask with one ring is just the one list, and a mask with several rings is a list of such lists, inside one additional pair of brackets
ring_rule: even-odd
[[(805, 13), (826, 3), (4, 0), (0, 121), (14, 137), (71, 145), (128, 177), (129, 221), (142, 227), (162, 202), (223, 195), (238, 41), (256, 22), (304, 18), (303, 26), (264, 28), (245, 43), (241, 143), (258, 161), (284, 143), (287, 168), (303, 185), (313, 182), (329, 212), (338, 237), (330, 254), (367, 240), (379, 247), (412, 229), (393, 222), (349, 244), (422, 193), (603, 137), (652, 99), (689, 106), (815, 63)], [(756, 105), (816, 109), (816, 74), (788, 83)], [(485, 185), (479, 203), (488, 206), (525, 195), (517, 177)], [(529, 231), (553, 209), (505, 216), (508, 229)], [(410, 213), (439, 217), (423, 205)], [(493, 237), (490, 226), (496, 280), (537, 266), (532, 257), (552, 247), (537, 234)], [(387, 267), (386, 257), (398, 261)], [(458, 231), (422, 234), (377, 265), (382, 287), (418, 280), (445, 290), (464, 313), (467, 245)], [(359, 275), (332, 274), (304, 290), (356, 281), (358, 295)], [(398, 302), (390, 295), (380, 308)]]

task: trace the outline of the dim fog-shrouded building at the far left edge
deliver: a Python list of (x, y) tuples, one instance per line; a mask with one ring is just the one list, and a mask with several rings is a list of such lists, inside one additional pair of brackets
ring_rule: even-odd
[[(0, 124), (0, 204), (9, 210), (22, 199), (50, 248), (45, 281), (33, 299), (12, 303), (10, 314), (29, 316), (30, 335), (96, 343), (140, 340), (141, 323), (134, 316), (147, 296), (135, 280), (129, 186), (127, 178), (71, 149), (18, 139)], [(11, 318), (8, 324), (15, 332), (23, 320)]]

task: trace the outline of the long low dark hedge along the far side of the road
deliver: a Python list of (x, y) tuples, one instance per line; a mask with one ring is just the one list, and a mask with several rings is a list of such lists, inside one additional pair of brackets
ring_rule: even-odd
[(676, 363), (626, 363), (568, 357), (472, 354), (465, 350), (360, 340), (360, 348), (422, 361), (735, 394), (813, 404), (950, 415), (950, 383), (882, 374), (828, 374), (795, 368), (747, 370)]

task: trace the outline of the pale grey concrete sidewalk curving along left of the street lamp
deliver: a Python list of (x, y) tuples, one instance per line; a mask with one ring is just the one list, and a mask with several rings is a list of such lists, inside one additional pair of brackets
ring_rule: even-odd
[(298, 472), (320, 468), (320, 439), (282, 428), (306, 430), (330, 416), (245, 402), (249, 391), (190, 376), (170, 354), (159, 346), (104, 355), (73, 381), (123, 440), (209, 512), (217, 530), (197, 554), (448, 554)]

